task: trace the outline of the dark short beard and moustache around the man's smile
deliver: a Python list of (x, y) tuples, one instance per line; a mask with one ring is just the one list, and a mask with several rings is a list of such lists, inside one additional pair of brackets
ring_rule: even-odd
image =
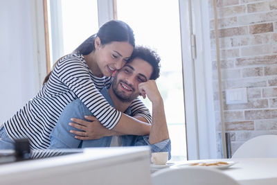
[[(116, 82), (117, 79), (114, 78), (114, 82)], [(113, 91), (114, 91), (114, 94), (116, 95), (116, 97), (122, 101), (123, 103), (131, 103), (134, 98), (136, 98), (137, 96), (139, 96), (139, 93), (137, 94), (134, 94), (134, 87), (132, 85), (129, 85), (127, 84), (127, 82), (123, 82), (123, 80), (119, 80), (118, 82), (114, 83), (111, 85)], [(118, 86), (120, 86), (120, 83), (123, 83), (125, 85), (128, 85), (129, 87), (132, 88), (132, 93), (129, 94), (129, 95), (126, 95), (124, 91), (120, 91), (118, 90)]]

